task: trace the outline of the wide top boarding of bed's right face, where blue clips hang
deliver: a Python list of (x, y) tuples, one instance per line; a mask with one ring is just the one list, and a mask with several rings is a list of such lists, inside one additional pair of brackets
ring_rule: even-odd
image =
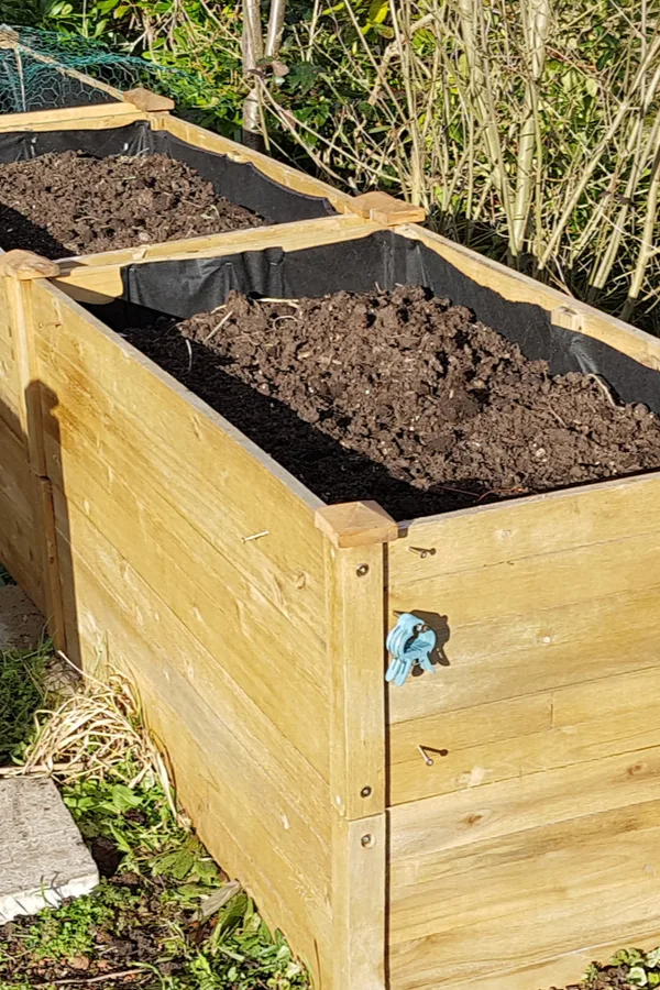
[(411, 524), (391, 546), (388, 624), (436, 616), (447, 666), (391, 689), (391, 721), (656, 663), (659, 495), (653, 474)]

